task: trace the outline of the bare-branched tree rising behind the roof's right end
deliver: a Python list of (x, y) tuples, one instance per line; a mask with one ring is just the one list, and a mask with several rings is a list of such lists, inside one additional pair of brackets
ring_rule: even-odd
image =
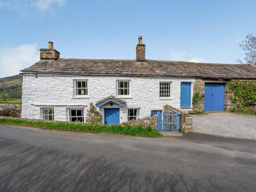
[[(244, 60), (256, 67), (256, 36), (253, 34), (246, 35), (246, 38), (242, 40), (239, 45), (243, 51), (246, 53)], [(243, 63), (241, 59), (237, 59), (238, 62)]]

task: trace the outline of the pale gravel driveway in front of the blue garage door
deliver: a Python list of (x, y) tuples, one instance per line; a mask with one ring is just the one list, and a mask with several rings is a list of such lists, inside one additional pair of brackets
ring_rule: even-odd
[(195, 133), (256, 140), (256, 116), (229, 112), (193, 115)]

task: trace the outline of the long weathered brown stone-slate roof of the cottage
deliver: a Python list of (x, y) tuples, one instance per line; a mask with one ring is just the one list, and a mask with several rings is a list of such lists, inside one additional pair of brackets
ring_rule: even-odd
[(23, 69), (22, 73), (256, 79), (256, 68), (247, 64), (154, 60), (44, 59)]

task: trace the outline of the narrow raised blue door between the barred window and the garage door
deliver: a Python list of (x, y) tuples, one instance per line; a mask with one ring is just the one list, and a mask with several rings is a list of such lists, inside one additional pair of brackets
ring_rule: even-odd
[(180, 86), (180, 107), (190, 107), (191, 83), (182, 82)]

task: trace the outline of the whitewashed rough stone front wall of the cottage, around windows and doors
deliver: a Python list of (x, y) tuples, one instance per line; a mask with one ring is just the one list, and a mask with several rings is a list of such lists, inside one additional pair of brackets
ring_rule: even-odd
[[(74, 97), (74, 80), (88, 80), (88, 96)], [(180, 108), (180, 82), (194, 82), (194, 79), (159, 77), (117, 77), (117, 76), (57, 76), (23, 74), (22, 118), (41, 119), (41, 107), (54, 107), (55, 120), (67, 120), (67, 108), (77, 106), (88, 109), (109, 95), (116, 97), (116, 81), (130, 80), (130, 97), (121, 99), (128, 108), (140, 108), (140, 118), (150, 115), (151, 110), (161, 110), (168, 104)], [(172, 97), (159, 98), (159, 82), (172, 81)], [(193, 85), (192, 85), (193, 86)], [(191, 87), (193, 91), (193, 87)], [(193, 95), (193, 93), (191, 93)], [(101, 109), (102, 111), (102, 109)], [(85, 110), (86, 112), (86, 110)], [(120, 108), (120, 122), (127, 120), (127, 108)]]

